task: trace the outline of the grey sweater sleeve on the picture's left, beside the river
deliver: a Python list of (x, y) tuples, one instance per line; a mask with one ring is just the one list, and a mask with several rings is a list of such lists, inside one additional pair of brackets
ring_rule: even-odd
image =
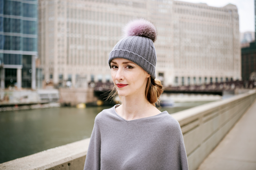
[(100, 169), (101, 135), (99, 121), (95, 118), (89, 148), (85, 158), (84, 170)]

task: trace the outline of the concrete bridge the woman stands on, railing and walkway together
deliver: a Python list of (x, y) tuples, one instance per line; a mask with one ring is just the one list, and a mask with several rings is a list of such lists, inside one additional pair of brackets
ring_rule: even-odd
[[(181, 126), (189, 169), (256, 169), (255, 109), (254, 89), (172, 114)], [(11, 160), (0, 169), (82, 170), (89, 142), (84, 139)]]

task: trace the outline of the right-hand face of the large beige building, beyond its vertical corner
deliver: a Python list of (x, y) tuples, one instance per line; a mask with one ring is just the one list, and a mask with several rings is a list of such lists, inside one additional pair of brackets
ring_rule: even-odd
[(237, 7), (173, 3), (174, 85), (241, 80)]

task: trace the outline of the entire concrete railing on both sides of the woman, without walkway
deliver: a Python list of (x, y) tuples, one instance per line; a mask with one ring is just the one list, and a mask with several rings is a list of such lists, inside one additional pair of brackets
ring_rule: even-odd
[[(255, 90), (172, 114), (180, 125), (189, 169), (195, 170), (256, 98)], [(0, 164), (0, 169), (83, 169), (90, 139)]]

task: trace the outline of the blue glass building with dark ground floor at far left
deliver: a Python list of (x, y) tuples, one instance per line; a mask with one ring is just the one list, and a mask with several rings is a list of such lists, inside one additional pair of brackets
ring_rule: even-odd
[(1, 88), (35, 88), (37, 0), (0, 0)]

